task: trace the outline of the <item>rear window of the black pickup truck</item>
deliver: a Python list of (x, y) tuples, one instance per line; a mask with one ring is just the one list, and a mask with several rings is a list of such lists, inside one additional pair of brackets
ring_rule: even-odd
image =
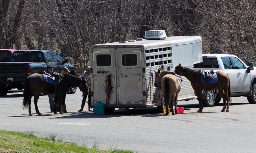
[(22, 51), (14, 52), (11, 62), (44, 62), (42, 52)]

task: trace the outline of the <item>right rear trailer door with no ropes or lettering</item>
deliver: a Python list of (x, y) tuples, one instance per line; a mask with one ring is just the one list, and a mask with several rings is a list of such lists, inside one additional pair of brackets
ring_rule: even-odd
[(117, 49), (117, 86), (119, 105), (143, 104), (141, 48)]

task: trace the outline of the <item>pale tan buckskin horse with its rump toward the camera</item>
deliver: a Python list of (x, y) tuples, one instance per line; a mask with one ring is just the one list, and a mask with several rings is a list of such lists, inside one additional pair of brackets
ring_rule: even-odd
[[(161, 82), (161, 90), (163, 92), (164, 104), (165, 104), (165, 115), (169, 115), (169, 104), (171, 95), (171, 112), (172, 115), (178, 114), (177, 111), (177, 99), (181, 90), (181, 84), (175, 73), (171, 71), (160, 71), (156, 72), (154, 85), (158, 87)], [(173, 105), (175, 106), (175, 113), (173, 111)]]

